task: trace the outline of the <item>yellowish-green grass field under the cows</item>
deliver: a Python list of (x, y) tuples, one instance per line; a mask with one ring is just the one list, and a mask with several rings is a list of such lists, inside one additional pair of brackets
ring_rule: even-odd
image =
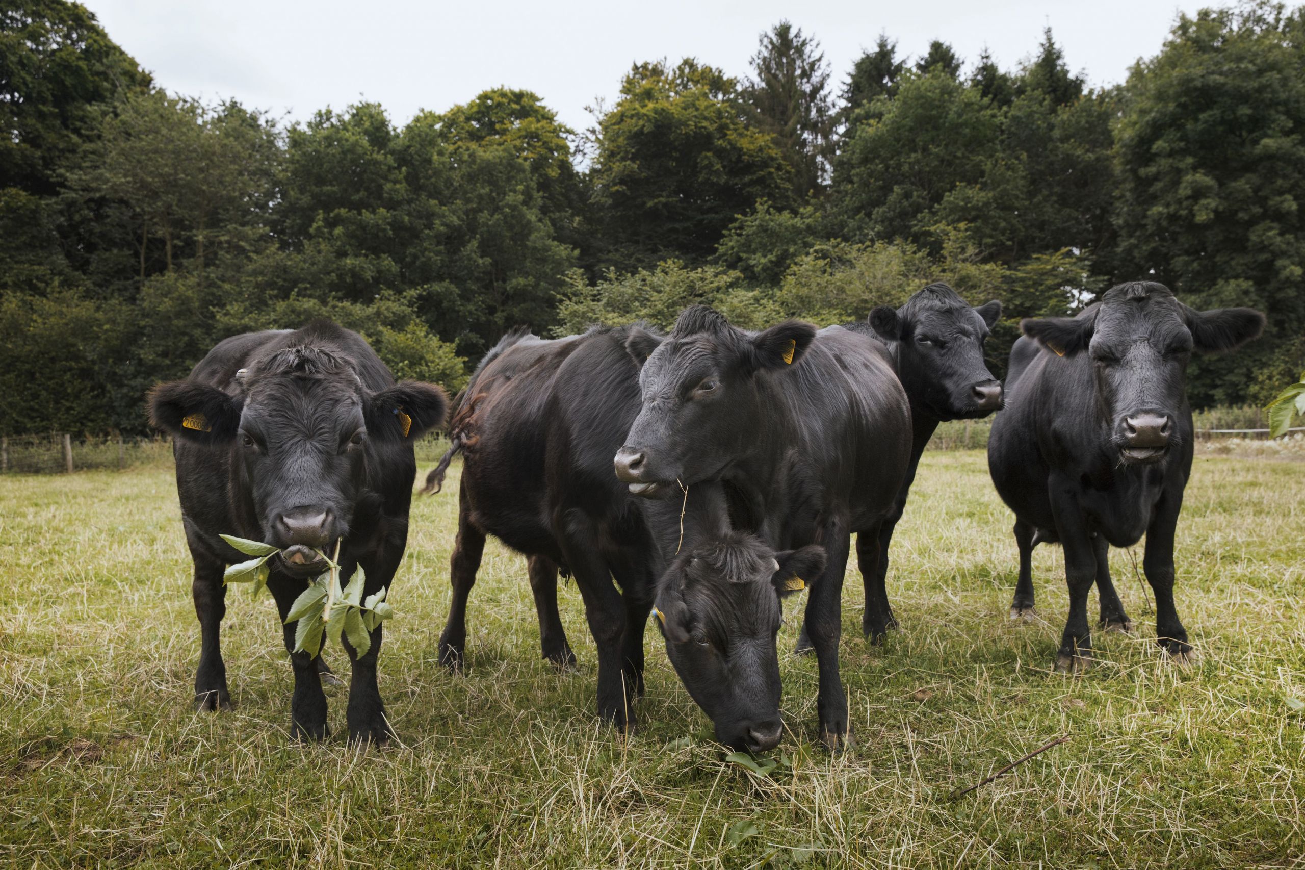
[[(454, 469), (454, 473), (457, 469)], [(273, 605), (232, 589), (236, 708), (191, 712), (198, 627), (171, 470), (0, 478), (0, 861), (42, 866), (1048, 867), (1298, 866), (1305, 854), (1305, 462), (1198, 459), (1178, 529), (1178, 606), (1201, 664), (1164, 661), (1129, 554), (1134, 636), (1052, 675), (1061, 553), (1035, 555), (1040, 619), (1006, 618), (1011, 517), (977, 452), (925, 456), (894, 543), (902, 631), (860, 637), (844, 594), (856, 747), (816, 742), (816, 662), (783, 656), (795, 759), (724, 760), (649, 632), (641, 730), (592, 713), (595, 654), (562, 589), (576, 673), (539, 658), (523, 560), (491, 545), (468, 673), (436, 662), (457, 487), (415, 502), (381, 692), (402, 745), (288, 739)], [(801, 602), (801, 598), (799, 598)], [(797, 620), (780, 641), (791, 649)], [(341, 668), (341, 651), (328, 653)], [(1070, 741), (958, 801), (1007, 762)], [(796, 769), (795, 769), (796, 768)], [(757, 835), (731, 845), (727, 831)]]

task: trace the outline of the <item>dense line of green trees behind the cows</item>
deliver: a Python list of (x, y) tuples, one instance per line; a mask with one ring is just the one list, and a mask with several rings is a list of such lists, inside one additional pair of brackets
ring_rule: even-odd
[(1048, 30), (1000, 68), (881, 34), (842, 80), (790, 22), (741, 77), (636, 64), (592, 129), (485, 90), (398, 125), (286, 124), (167, 93), (84, 7), (0, 10), (0, 430), (141, 432), (215, 341), (329, 315), (458, 388), (506, 329), (561, 334), (706, 300), (745, 325), (864, 317), (946, 280), (1018, 320), (1154, 276), (1270, 315), (1199, 361), (1199, 404), (1305, 367), (1305, 13), (1180, 17), (1088, 88)]

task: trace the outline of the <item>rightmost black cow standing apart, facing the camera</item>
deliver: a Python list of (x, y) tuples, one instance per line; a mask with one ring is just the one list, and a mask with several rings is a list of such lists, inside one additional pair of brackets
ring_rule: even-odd
[(1194, 311), (1163, 285), (1112, 287), (1077, 317), (1024, 320), (1010, 351), (1006, 410), (993, 422), (988, 468), (1015, 512), (1019, 583), (1011, 615), (1034, 606), (1030, 559), (1039, 542), (1065, 547), (1069, 619), (1056, 670), (1091, 664), (1087, 592), (1100, 593), (1100, 624), (1128, 628), (1107, 568), (1108, 547), (1146, 534), (1143, 570), (1155, 592), (1158, 643), (1191, 652), (1173, 605), (1173, 536), (1191, 473), (1191, 353), (1232, 350), (1255, 338), (1250, 308)]

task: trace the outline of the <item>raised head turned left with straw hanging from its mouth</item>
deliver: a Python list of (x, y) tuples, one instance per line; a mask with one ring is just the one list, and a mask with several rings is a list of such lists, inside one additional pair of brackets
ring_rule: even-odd
[(719, 478), (766, 427), (757, 376), (799, 364), (814, 337), (797, 320), (745, 333), (706, 306), (681, 312), (666, 340), (633, 330), (642, 406), (616, 477), (637, 495)]

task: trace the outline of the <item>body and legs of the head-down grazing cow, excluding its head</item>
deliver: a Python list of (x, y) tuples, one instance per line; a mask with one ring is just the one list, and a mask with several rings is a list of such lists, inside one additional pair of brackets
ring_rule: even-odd
[(622, 329), (555, 341), (513, 333), (468, 387), (452, 423), (463, 466), (440, 661), (463, 664), (467, 596), (493, 534), (531, 558), (544, 654), (557, 664), (573, 660), (557, 619), (557, 568), (574, 577), (598, 645), (599, 713), (633, 729), (660, 563), (639, 504), (611, 472), (638, 410), (625, 338)]

